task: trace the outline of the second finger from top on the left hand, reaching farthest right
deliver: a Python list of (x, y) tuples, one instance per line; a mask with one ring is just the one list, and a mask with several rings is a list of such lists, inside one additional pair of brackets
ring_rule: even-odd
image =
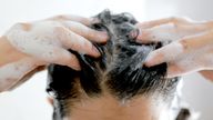
[(93, 42), (106, 42), (109, 38), (106, 31), (97, 31), (79, 22), (63, 21), (62, 23), (65, 28)]

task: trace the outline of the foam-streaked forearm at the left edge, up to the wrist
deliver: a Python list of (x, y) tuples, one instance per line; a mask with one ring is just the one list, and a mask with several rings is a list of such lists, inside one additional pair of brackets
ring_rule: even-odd
[(36, 68), (33, 59), (18, 51), (6, 37), (0, 38), (0, 92), (24, 82), (24, 78)]

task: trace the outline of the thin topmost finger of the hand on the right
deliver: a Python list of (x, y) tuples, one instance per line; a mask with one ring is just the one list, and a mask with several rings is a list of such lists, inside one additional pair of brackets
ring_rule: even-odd
[(138, 23), (136, 27), (141, 29), (150, 29), (152, 27), (161, 26), (161, 24), (166, 24), (166, 23), (189, 23), (189, 21), (185, 18), (176, 18), (176, 17), (171, 17), (171, 18), (164, 18), (160, 20), (152, 20), (152, 21), (146, 21), (146, 22), (141, 22)]

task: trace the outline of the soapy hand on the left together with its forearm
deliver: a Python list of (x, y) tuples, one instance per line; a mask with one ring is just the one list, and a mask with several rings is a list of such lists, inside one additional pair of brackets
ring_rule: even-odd
[(59, 16), (14, 24), (0, 38), (0, 91), (13, 88), (26, 74), (49, 63), (80, 70), (68, 49), (99, 57), (92, 42), (106, 42), (108, 36), (87, 27), (93, 22), (91, 18)]

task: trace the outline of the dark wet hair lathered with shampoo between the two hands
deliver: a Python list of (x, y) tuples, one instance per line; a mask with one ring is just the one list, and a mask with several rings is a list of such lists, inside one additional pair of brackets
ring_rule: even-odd
[(55, 99), (54, 120), (64, 117), (69, 111), (68, 102), (80, 99), (82, 92), (88, 97), (100, 97), (106, 90), (118, 100), (123, 100), (154, 93), (166, 97), (175, 89), (179, 79), (164, 78), (166, 63), (151, 68), (143, 66), (148, 54), (164, 43), (135, 43), (139, 30), (134, 24), (138, 21), (130, 13), (112, 14), (106, 10), (95, 18), (100, 22), (91, 28), (106, 31), (110, 37), (106, 44), (94, 43), (102, 56), (92, 58), (70, 50), (78, 57), (81, 71), (49, 66), (47, 91)]

